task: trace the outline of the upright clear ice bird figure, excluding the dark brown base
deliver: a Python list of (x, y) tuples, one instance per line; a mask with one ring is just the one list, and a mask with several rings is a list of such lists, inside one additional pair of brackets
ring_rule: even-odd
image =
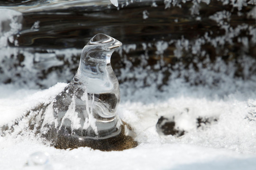
[(106, 34), (95, 35), (85, 45), (77, 73), (52, 103), (57, 129), (97, 139), (119, 133), (119, 82), (110, 58), (121, 45)]

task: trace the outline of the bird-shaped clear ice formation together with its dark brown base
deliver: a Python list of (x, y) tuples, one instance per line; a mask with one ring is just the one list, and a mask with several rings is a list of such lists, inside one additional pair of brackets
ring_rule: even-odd
[(124, 134), (127, 124), (117, 115), (119, 82), (110, 64), (112, 53), (121, 45), (106, 34), (92, 37), (82, 50), (73, 80), (52, 102), (27, 114), (30, 129), (56, 148), (122, 150), (116, 143), (123, 149), (134, 147), (136, 142)]

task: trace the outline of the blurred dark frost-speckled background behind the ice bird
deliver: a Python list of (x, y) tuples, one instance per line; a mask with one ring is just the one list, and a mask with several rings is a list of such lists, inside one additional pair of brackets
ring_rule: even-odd
[(104, 33), (123, 43), (111, 58), (121, 88), (255, 89), (256, 0), (118, 2), (1, 1), (0, 84), (68, 83), (84, 45)]

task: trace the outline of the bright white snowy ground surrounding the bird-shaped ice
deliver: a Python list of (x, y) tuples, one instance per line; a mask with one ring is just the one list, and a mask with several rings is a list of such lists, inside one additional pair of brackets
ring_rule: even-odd
[[(118, 113), (134, 128), (139, 142), (136, 148), (112, 152), (87, 147), (59, 150), (27, 132), (14, 133), (0, 137), (1, 169), (255, 170), (256, 122), (248, 114), (256, 111), (255, 91), (221, 96), (213, 95), (213, 90), (204, 87), (178, 84), (168, 85), (169, 91), (162, 93), (148, 87), (130, 96), (128, 91), (134, 89), (121, 85), (122, 101)], [(0, 85), (0, 125), (50, 100), (65, 85), (59, 83), (46, 90)], [(175, 126), (185, 130), (185, 135), (159, 135), (155, 125), (160, 116), (175, 116)], [(199, 116), (214, 117), (218, 121), (197, 128)], [(48, 155), (48, 161), (43, 165), (27, 166), (29, 155), (35, 152)]]

